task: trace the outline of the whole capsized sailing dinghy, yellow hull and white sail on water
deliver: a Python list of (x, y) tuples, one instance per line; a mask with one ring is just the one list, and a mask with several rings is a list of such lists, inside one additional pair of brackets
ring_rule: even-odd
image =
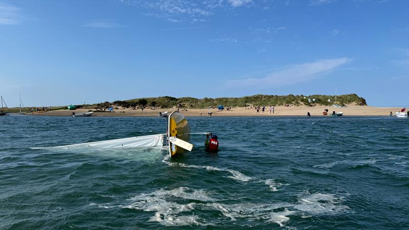
[(165, 142), (169, 145), (169, 155), (173, 157), (183, 153), (185, 150), (192, 151), (193, 145), (189, 143), (190, 134), (190, 127), (186, 118), (177, 111), (173, 111), (168, 116), (168, 130), (167, 133), (164, 134), (134, 136), (123, 139), (64, 145), (52, 148), (161, 148), (164, 146)]

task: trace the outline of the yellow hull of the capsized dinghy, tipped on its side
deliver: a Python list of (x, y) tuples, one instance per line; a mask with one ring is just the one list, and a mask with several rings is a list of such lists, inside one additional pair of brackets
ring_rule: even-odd
[[(173, 111), (168, 117), (168, 137), (176, 136), (178, 139), (185, 142), (190, 141), (190, 127), (185, 116)], [(185, 149), (169, 142), (169, 155), (171, 157), (185, 152)]]

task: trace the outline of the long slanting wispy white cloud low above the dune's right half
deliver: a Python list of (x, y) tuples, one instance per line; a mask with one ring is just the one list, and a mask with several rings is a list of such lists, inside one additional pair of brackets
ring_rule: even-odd
[(247, 78), (228, 81), (227, 86), (270, 88), (296, 84), (328, 74), (335, 70), (336, 67), (344, 65), (349, 61), (351, 61), (349, 58), (336, 58), (289, 65), (270, 73), (264, 78)]

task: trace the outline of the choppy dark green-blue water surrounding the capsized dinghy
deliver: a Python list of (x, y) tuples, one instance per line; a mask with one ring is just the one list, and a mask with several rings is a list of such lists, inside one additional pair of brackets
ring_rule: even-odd
[(402, 229), (409, 119), (188, 118), (161, 149), (31, 149), (166, 132), (161, 118), (0, 117), (0, 229)]

